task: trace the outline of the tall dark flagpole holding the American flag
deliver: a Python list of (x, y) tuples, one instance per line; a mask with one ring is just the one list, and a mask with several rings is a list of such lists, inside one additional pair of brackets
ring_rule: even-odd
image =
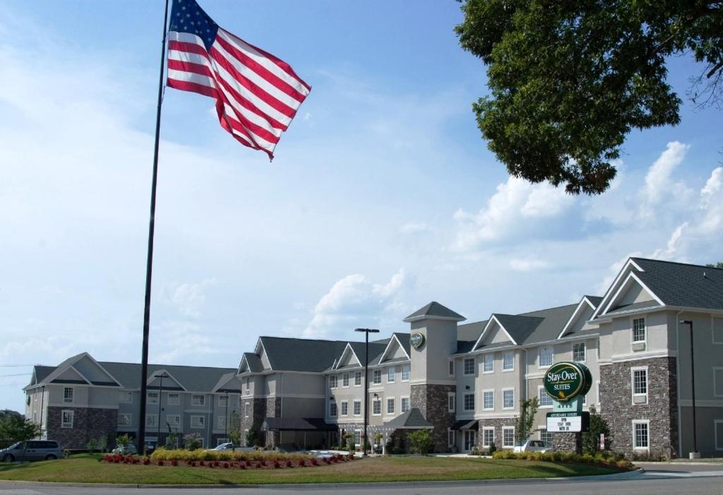
[[(153, 273), (153, 233), (155, 231), (155, 186), (158, 182), (158, 142), (161, 137), (161, 103), (163, 103), (163, 69), (166, 67), (166, 36), (168, 35), (168, 0), (163, 13), (161, 41), (161, 72), (158, 75), (158, 108), (155, 113), (155, 144), (153, 145), (153, 181), (150, 189), (150, 221), (148, 223), (148, 257), (145, 267), (145, 305), (143, 307), (143, 350), (140, 376), (140, 415), (138, 418), (138, 450), (145, 454), (145, 406), (148, 376), (148, 333), (150, 328), (150, 281)], [(161, 395), (158, 395), (161, 404)], [(161, 418), (158, 418), (161, 424)]]

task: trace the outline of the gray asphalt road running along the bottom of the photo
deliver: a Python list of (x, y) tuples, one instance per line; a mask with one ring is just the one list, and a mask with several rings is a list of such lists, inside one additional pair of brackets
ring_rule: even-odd
[(374, 495), (723, 495), (723, 465), (641, 464), (644, 473), (591, 476), (565, 480), (479, 481), (440, 483), (367, 483), (306, 486), (263, 486), (248, 488), (101, 488), (97, 486), (38, 486), (0, 481), (0, 495), (288, 495), (374, 494)]

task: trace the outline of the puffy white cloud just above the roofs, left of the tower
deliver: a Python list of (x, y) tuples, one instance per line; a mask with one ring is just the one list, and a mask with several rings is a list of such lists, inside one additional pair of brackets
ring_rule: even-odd
[(347, 275), (335, 283), (313, 311), (304, 337), (327, 338), (355, 327), (378, 325), (385, 311), (404, 309), (397, 296), (405, 287), (407, 275), (399, 270), (388, 283), (372, 283), (364, 275)]

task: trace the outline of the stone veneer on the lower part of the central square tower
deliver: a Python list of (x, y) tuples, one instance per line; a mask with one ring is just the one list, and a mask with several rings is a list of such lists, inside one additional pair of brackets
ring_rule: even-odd
[(423, 384), (411, 385), (409, 403), (417, 408), (422, 416), (432, 423), (432, 440), (435, 442), (434, 452), (449, 452), (447, 429), (454, 424), (455, 413), (448, 408), (448, 392), (456, 392), (455, 385)]

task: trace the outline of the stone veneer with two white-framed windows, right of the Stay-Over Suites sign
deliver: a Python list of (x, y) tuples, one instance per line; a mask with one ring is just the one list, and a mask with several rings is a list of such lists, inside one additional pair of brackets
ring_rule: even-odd
[[(648, 403), (633, 405), (630, 369), (648, 366)], [(677, 457), (675, 358), (651, 358), (600, 366), (600, 414), (612, 435), (612, 450), (633, 455), (633, 420), (647, 419), (649, 452)]]

